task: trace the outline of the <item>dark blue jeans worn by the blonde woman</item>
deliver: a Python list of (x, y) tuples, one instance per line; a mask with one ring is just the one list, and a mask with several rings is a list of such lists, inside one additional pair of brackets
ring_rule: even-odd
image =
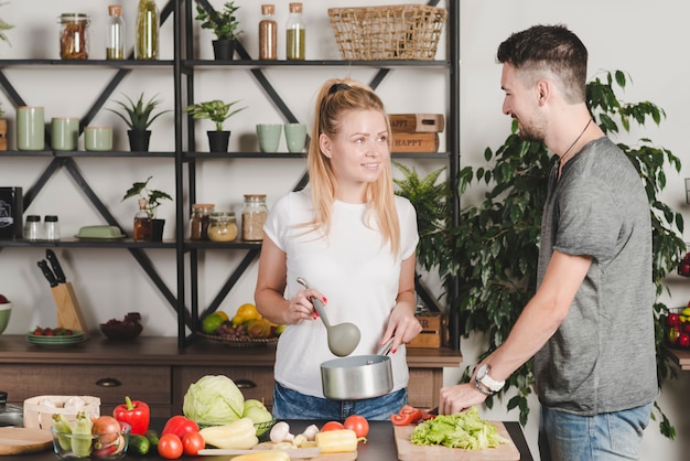
[(369, 420), (388, 420), (391, 414), (400, 411), (407, 400), (407, 388), (362, 400), (330, 400), (304, 395), (276, 383), (272, 412), (276, 419), (343, 421), (351, 415), (360, 415)]

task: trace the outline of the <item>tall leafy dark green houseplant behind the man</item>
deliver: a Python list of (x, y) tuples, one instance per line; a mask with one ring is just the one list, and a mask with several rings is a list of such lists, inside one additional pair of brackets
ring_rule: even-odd
[[(630, 122), (644, 127), (651, 119), (659, 124), (666, 116), (656, 105), (643, 101), (623, 104), (616, 97), (614, 83), (624, 89), (626, 76), (622, 72), (606, 73), (604, 81), (596, 77), (587, 84), (587, 107), (593, 119), (607, 133), (629, 131)], [(666, 186), (665, 167), (680, 171), (680, 160), (667, 149), (655, 147), (647, 138), (637, 146), (618, 143), (644, 181), (650, 204), (653, 222), (653, 275), (657, 297), (668, 291), (664, 278), (676, 269), (686, 246), (682, 240), (682, 216), (664, 204), (658, 194)], [(461, 211), (459, 224), (453, 226), (439, 211), (431, 227), (420, 233), (420, 264), (427, 270), (438, 270), (444, 281), (449, 309), (459, 312), (463, 334), (481, 332), (487, 337), (482, 356), (505, 341), (522, 307), (536, 291), (536, 266), (547, 181), (553, 159), (543, 144), (524, 141), (517, 135), (517, 125), (496, 152), (486, 149), (487, 167), (461, 169), (457, 176), (459, 193), (473, 180), (487, 187), (484, 202)], [(406, 181), (414, 179), (407, 172)], [(403, 191), (405, 192), (405, 189)], [(402, 192), (400, 192), (402, 194)], [(408, 191), (409, 193), (409, 191)], [(408, 196), (408, 195), (406, 195)], [(414, 195), (408, 196), (416, 206)], [(428, 202), (428, 200), (427, 200)], [(435, 242), (435, 243), (434, 243)], [(431, 243), (434, 243), (431, 245)], [(659, 302), (654, 305), (655, 318), (668, 312)], [(657, 322), (657, 372), (659, 379), (676, 377), (670, 355), (664, 342), (664, 329)], [(466, 369), (463, 380), (468, 380), (472, 369)], [(508, 389), (516, 393), (507, 409), (519, 409), (519, 419), (526, 424), (529, 415), (527, 397), (532, 393), (532, 363), (527, 362), (510, 376), (499, 394)], [(493, 407), (489, 397), (486, 405)], [(660, 417), (659, 429), (666, 437), (675, 438), (675, 428), (658, 406), (653, 418)]]

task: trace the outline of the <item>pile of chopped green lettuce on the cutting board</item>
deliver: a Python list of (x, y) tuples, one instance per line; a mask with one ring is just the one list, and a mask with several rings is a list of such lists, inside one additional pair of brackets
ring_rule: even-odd
[(507, 439), (498, 435), (496, 426), (479, 418), (476, 407), (420, 422), (410, 440), (414, 444), (442, 444), (465, 450), (483, 450), (508, 443)]

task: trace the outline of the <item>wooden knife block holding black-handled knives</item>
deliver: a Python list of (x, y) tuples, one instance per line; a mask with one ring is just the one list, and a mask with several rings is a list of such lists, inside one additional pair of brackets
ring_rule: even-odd
[(57, 255), (55, 255), (55, 251), (52, 249), (47, 248), (45, 250), (45, 257), (50, 261), (52, 269), (48, 268), (45, 259), (39, 261), (39, 267), (43, 276), (51, 283), (51, 291), (53, 292), (53, 299), (57, 307), (57, 326), (83, 331), (85, 339), (88, 339), (88, 328), (82, 314), (79, 301), (77, 300), (72, 283), (69, 283), (65, 277)]

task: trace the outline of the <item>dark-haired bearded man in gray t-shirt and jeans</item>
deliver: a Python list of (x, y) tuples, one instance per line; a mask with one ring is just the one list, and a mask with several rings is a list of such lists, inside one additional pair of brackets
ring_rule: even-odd
[[(562, 25), (498, 47), (503, 111), (558, 160), (542, 215), (538, 289), (471, 383), (441, 389), (440, 411), (498, 392), (535, 357), (542, 460), (637, 459), (658, 394), (649, 203), (625, 154), (585, 105), (587, 51)], [(635, 341), (630, 341), (635, 337)]]

